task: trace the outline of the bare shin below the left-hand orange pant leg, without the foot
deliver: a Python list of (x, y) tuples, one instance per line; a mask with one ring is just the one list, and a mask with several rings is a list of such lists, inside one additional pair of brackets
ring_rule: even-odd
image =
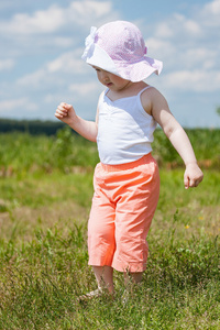
[(113, 294), (113, 268), (110, 266), (92, 266), (99, 288), (107, 288)]

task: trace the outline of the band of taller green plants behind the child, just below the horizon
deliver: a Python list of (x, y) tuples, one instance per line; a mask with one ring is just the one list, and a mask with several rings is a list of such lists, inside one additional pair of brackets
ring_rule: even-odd
[[(196, 156), (205, 168), (220, 168), (220, 130), (189, 130), (188, 135)], [(176, 168), (183, 161), (162, 130), (156, 130), (154, 155), (162, 167)], [(52, 173), (54, 169), (70, 173), (73, 169), (92, 169), (98, 162), (95, 143), (72, 133), (69, 128), (56, 136), (22, 133), (0, 134), (0, 176), (23, 178), (31, 173)]]

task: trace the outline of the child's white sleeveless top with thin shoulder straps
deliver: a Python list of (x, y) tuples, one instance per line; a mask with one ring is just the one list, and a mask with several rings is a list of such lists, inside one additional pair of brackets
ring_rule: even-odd
[(141, 94), (150, 87), (116, 101), (107, 97), (107, 89), (100, 98), (97, 145), (101, 163), (130, 163), (152, 151), (156, 121), (141, 103)]

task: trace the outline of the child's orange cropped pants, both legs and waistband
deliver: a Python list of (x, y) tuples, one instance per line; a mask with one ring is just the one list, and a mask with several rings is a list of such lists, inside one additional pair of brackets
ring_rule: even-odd
[(146, 235), (160, 196), (160, 174), (150, 154), (122, 165), (99, 163), (88, 222), (89, 265), (143, 272)]

